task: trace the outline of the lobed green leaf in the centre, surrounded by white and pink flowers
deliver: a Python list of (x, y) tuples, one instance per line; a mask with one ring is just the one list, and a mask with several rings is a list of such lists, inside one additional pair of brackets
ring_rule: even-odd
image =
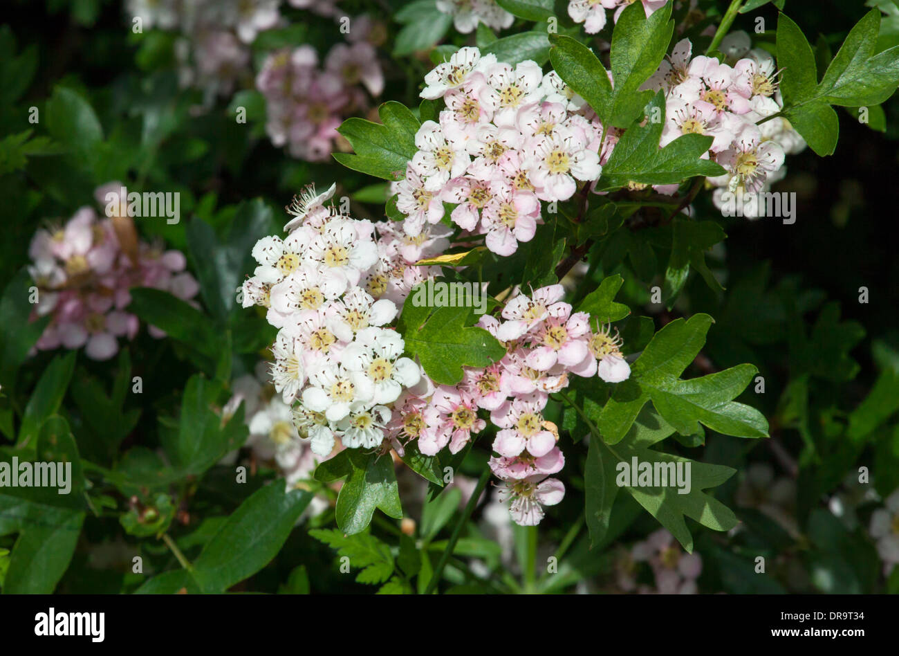
[(455, 385), (462, 380), (463, 366), (485, 367), (505, 355), (503, 345), (484, 328), (466, 325), (471, 308), (428, 307), (426, 286), (415, 285), (406, 298), (397, 329), (406, 353), (418, 357), (432, 381)]

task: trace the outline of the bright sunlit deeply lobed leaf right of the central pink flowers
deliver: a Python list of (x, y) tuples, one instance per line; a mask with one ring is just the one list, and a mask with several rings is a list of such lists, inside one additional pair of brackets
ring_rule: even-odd
[(734, 401), (758, 370), (740, 364), (723, 372), (681, 380), (684, 369), (699, 355), (712, 324), (708, 314), (675, 319), (655, 334), (631, 368), (627, 382), (615, 387), (602, 409), (598, 426), (609, 444), (626, 434), (645, 403), (683, 436), (699, 433), (699, 424), (737, 437), (767, 437), (768, 421), (757, 409)]

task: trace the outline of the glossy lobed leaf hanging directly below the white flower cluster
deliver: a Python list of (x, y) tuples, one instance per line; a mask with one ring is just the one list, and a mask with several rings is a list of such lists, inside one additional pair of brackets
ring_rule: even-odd
[(316, 468), (316, 481), (346, 478), (334, 510), (337, 526), (347, 535), (361, 533), (371, 522), (375, 508), (387, 517), (403, 517), (396, 474), (389, 456), (345, 449)]

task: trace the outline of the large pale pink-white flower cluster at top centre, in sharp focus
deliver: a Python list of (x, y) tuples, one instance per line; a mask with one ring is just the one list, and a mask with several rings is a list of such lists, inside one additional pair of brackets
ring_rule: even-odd
[(395, 186), (410, 236), (438, 223), (444, 202), (456, 203), (452, 222), (509, 256), (534, 237), (541, 201), (568, 200), (576, 181), (599, 177), (601, 126), (535, 62), (512, 67), (467, 47), (424, 81), (423, 98), (442, 98), (446, 108), (439, 121), (423, 122)]

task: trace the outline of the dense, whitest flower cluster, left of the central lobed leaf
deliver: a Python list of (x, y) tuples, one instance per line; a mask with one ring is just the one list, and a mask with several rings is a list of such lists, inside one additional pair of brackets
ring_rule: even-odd
[(275, 389), (285, 403), (299, 401), (297, 426), (319, 456), (332, 452), (335, 438), (351, 448), (380, 446), (390, 407), (422, 377), (402, 357), (403, 338), (386, 328), (397, 312), (388, 287), (402, 296), (403, 283), (379, 272), (402, 258), (396, 240), (378, 242), (370, 221), (325, 207), (333, 194), (334, 186), (312, 189), (295, 200), (288, 237), (257, 242), (259, 265), (241, 290), (244, 306), (263, 305), (279, 328)]

